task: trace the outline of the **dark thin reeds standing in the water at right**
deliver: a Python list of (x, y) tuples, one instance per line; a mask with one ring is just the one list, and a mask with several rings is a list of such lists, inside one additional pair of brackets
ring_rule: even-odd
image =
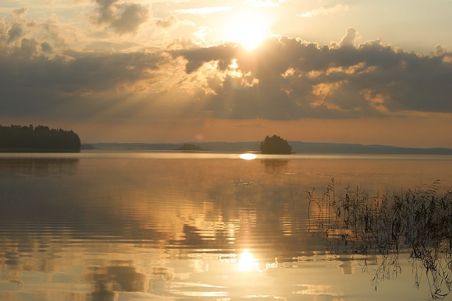
[(337, 195), (332, 179), (322, 195), (308, 193), (309, 231), (324, 233), (332, 254), (381, 256), (372, 279), (375, 289), (381, 280), (397, 276), (398, 254), (408, 252), (415, 285), (425, 276), (431, 298), (442, 299), (452, 291), (452, 191), (438, 187), (436, 181), (375, 197), (347, 187)]

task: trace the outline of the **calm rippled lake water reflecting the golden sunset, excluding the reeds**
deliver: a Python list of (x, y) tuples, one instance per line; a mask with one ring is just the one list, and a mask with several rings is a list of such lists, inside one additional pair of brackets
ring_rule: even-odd
[(408, 255), (375, 290), (381, 257), (308, 232), (331, 178), (447, 190), (452, 156), (0, 154), (0, 300), (427, 300)]

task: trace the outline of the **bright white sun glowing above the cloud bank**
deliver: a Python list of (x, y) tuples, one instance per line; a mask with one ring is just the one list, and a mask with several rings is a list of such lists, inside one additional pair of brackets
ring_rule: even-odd
[(241, 44), (246, 50), (256, 49), (269, 35), (266, 20), (251, 13), (240, 13), (225, 23), (223, 39), (225, 42)]

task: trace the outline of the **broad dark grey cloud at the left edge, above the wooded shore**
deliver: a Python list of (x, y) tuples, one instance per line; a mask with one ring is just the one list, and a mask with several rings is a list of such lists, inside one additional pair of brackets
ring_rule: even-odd
[[(118, 98), (133, 93), (133, 85), (150, 80), (162, 61), (155, 53), (80, 54), (48, 57), (40, 54), (45, 44), (23, 39), (13, 54), (0, 56), (0, 111), (6, 116), (45, 115), (54, 109), (77, 107), (90, 99), (84, 111), (90, 111), (102, 93), (116, 92)], [(129, 87), (129, 90), (124, 87)], [(118, 96), (119, 95), (119, 96)], [(98, 97), (96, 99), (96, 97)], [(114, 100), (112, 99), (112, 102)], [(86, 102), (84, 102), (86, 104)], [(107, 102), (108, 103), (108, 102)], [(112, 105), (112, 103), (107, 104)], [(80, 117), (80, 116), (79, 116)]]

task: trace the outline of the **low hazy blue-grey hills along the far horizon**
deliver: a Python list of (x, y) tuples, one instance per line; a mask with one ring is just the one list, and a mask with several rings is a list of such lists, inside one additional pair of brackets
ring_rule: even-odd
[[(82, 149), (129, 149), (129, 150), (178, 150), (186, 143), (91, 143)], [(297, 154), (452, 154), (452, 149), (443, 147), (411, 148), (389, 145), (357, 145), (343, 143), (316, 143), (289, 141), (292, 152)], [(196, 142), (196, 145), (211, 152), (259, 152), (261, 142)]]

